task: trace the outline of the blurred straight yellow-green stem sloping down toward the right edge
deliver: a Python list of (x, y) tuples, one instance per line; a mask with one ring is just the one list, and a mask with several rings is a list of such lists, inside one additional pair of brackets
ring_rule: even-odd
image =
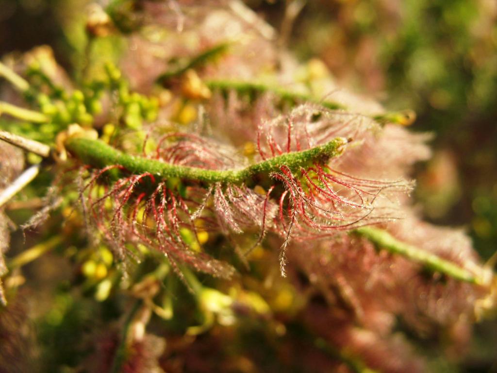
[(399, 241), (383, 229), (369, 226), (357, 228), (353, 232), (368, 239), (378, 246), (378, 248), (385, 249), (392, 254), (402, 255), (414, 262), (422, 264), (430, 271), (442, 273), (456, 280), (476, 284), (484, 284), (485, 282), (468, 270), (465, 270), (452, 262)]

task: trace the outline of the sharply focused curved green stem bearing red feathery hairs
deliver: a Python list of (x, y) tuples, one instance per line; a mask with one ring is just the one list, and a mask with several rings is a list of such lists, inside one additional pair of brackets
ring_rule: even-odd
[(151, 173), (160, 180), (179, 178), (208, 184), (242, 184), (255, 175), (267, 175), (271, 172), (277, 172), (283, 165), (292, 171), (298, 171), (301, 167), (305, 167), (314, 161), (327, 161), (329, 158), (339, 156), (343, 151), (343, 145), (346, 143), (347, 140), (337, 137), (327, 144), (312, 149), (285, 153), (240, 170), (222, 171), (177, 166), (158, 160), (135, 157), (116, 150), (98, 140), (72, 138), (66, 142), (66, 148), (84, 163), (96, 168), (121, 165), (132, 174)]

